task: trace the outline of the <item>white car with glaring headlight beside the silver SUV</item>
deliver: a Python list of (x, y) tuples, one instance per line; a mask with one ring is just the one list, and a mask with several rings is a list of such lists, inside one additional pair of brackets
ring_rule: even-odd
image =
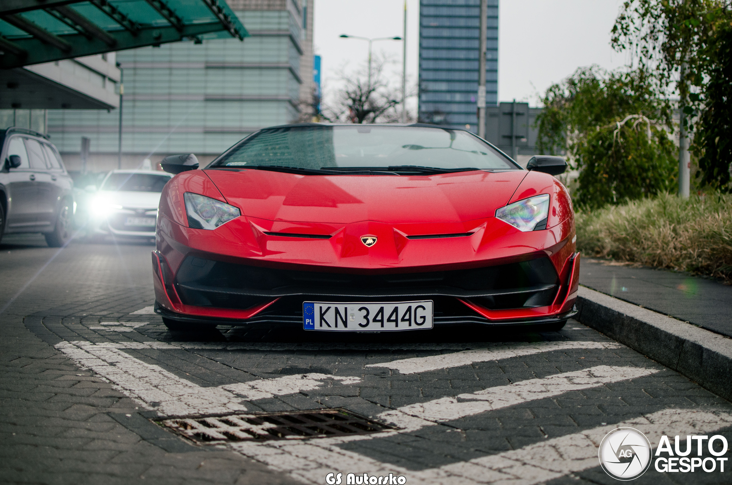
[[(90, 197), (87, 235), (155, 237), (157, 205), (171, 174), (151, 170), (113, 170)], [(93, 186), (92, 186), (93, 189)]]

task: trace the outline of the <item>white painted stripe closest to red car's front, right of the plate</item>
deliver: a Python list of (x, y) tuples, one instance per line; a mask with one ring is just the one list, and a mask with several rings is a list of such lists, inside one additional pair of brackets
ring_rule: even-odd
[(621, 344), (616, 342), (594, 341), (554, 341), (554, 342), (510, 342), (496, 344), (487, 349), (470, 349), (450, 354), (430, 355), (429, 357), (413, 357), (408, 359), (392, 360), (392, 362), (369, 364), (366, 367), (386, 367), (395, 369), (400, 374), (416, 374), (418, 372), (447, 369), (449, 367), (469, 366), (474, 362), (501, 360), (523, 355), (551, 352), (553, 350), (570, 349), (619, 349)]

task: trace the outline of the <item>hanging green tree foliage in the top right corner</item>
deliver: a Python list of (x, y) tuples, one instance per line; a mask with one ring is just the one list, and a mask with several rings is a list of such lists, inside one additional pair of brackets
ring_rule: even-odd
[(611, 42), (654, 71), (660, 93), (678, 93), (687, 127), (697, 130), (699, 181), (717, 190), (730, 190), (731, 29), (730, 0), (629, 0)]

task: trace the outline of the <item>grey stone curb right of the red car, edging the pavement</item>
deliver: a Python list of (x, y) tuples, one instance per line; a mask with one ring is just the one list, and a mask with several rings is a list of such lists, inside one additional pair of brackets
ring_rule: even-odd
[[(580, 286), (583, 325), (732, 401), (732, 338)], [(732, 316), (731, 316), (732, 318)]]

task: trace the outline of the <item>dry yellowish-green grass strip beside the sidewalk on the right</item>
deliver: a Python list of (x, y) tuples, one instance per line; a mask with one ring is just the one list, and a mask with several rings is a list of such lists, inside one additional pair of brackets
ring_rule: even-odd
[(661, 195), (578, 211), (577, 246), (612, 258), (732, 281), (732, 195)]

